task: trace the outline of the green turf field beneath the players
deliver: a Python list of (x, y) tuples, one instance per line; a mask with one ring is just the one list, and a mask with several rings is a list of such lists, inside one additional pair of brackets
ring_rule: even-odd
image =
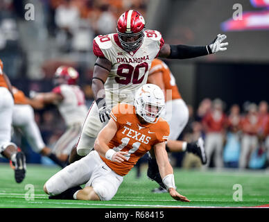
[[(49, 200), (44, 194), (44, 182), (59, 170), (42, 165), (27, 166), (24, 182), (17, 184), (8, 164), (0, 164), (0, 208), (60, 208), (60, 207), (269, 207), (269, 171), (194, 171), (174, 169), (175, 185), (180, 194), (191, 200), (182, 203), (169, 194), (153, 194), (157, 187), (148, 180), (146, 169), (135, 178), (136, 169), (125, 176), (118, 193), (110, 201)], [(235, 201), (234, 185), (242, 186), (242, 201)], [(26, 185), (33, 185), (34, 199), (26, 194)], [(28, 197), (28, 200), (27, 200)], [(237, 195), (238, 197), (238, 195)]]

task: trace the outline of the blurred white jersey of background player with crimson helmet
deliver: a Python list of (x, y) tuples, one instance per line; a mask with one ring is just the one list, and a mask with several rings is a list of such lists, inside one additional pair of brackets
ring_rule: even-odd
[(85, 105), (85, 95), (77, 85), (62, 84), (53, 89), (53, 92), (61, 94), (64, 99), (55, 105), (58, 106), (67, 126), (74, 123), (83, 124), (87, 115), (87, 106)]

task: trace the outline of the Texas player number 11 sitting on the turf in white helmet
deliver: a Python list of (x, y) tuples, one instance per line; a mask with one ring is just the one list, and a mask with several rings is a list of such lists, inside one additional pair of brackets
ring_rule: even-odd
[[(165, 149), (169, 125), (160, 117), (164, 109), (164, 94), (157, 85), (140, 87), (134, 105), (119, 103), (112, 108), (111, 119), (98, 134), (94, 151), (45, 183), (46, 194), (52, 199), (111, 200), (123, 176), (153, 148), (169, 194), (175, 200), (189, 202), (176, 191), (173, 168)], [(85, 188), (81, 189), (83, 184)]]

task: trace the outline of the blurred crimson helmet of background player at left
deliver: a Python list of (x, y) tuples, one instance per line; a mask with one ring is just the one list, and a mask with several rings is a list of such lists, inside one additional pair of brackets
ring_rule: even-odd
[(76, 85), (78, 81), (78, 71), (73, 67), (65, 67), (60, 66), (56, 69), (54, 78), (55, 85), (59, 84), (68, 84), (68, 85)]

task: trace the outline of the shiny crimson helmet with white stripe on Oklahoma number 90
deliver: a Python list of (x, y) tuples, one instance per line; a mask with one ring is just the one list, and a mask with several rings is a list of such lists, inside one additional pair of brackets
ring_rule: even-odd
[[(144, 39), (145, 20), (136, 10), (128, 10), (120, 17), (116, 25), (119, 42), (125, 51), (134, 51)], [(132, 41), (130, 41), (132, 40)]]

